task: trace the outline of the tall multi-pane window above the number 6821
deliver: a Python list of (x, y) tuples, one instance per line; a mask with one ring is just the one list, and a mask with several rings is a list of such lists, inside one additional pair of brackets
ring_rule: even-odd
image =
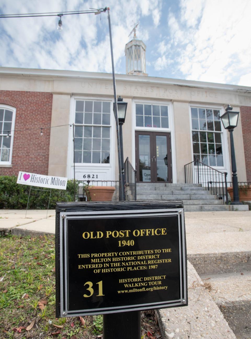
[(110, 163), (110, 111), (107, 101), (76, 101), (76, 163)]

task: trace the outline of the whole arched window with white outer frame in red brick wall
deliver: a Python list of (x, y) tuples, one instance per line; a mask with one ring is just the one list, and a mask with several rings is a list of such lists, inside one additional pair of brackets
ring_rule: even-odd
[(11, 165), (16, 109), (0, 105), (0, 166)]

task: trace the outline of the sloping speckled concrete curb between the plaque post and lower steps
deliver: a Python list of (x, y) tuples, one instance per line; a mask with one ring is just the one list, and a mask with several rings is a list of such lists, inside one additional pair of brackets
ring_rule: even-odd
[(163, 339), (236, 339), (204, 283), (188, 262), (188, 306), (157, 310)]

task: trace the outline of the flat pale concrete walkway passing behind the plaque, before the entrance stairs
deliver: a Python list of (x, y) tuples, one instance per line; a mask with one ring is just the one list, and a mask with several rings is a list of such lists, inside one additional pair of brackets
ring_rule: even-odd
[[(0, 230), (55, 234), (55, 210), (0, 210)], [(46, 218), (47, 214), (47, 218)], [(185, 212), (188, 254), (251, 250), (251, 211)]]

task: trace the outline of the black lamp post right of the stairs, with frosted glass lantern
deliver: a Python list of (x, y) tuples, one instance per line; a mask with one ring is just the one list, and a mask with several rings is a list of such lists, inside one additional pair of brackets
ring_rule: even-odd
[(238, 179), (236, 174), (236, 161), (234, 153), (234, 139), (233, 139), (233, 130), (237, 126), (239, 112), (233, 112), (233, 107), (228, 105), (226, 112), (220, 117), (224, 128), (228, 129), (230, 133), (230, 148), (231, 148), (231, 163), (232, 163), (232, 182), (233, 182), (233, 200), (231, 205), (239, 205), (239, 190), (238, 190)]

